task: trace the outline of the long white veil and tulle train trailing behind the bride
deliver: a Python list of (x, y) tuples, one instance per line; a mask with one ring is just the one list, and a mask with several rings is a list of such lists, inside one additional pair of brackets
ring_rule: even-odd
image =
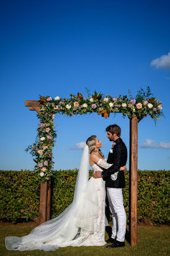
[(24, 237), (6, 237), (7, 250), (56, 250), (79, 246), (94, 231), (98, 198), (94, 178), (89, 180), (89, 147), (84, 147), (73, 202), (58, 217), (35, 227)]

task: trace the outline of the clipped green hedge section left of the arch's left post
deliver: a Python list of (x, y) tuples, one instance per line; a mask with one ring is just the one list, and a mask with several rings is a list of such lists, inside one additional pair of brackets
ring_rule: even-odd
[(34, 171), (0, 171), (0, 187), (1, 220), (38, 219), (40, 186)]

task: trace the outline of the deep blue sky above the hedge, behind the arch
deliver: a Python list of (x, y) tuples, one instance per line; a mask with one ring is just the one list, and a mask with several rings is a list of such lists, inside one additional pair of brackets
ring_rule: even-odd
[[(38, 119), (25, 99), (69, 98), (86, 87), (103, 94), (136, 96), (150, 86), (164, 117), (138, 124), (138, 168), (170, 169), (169, 1), (1, 1), (1, 170), (33, 170), (25, 152), (35, 141)], [(96, 134), (105, 157), (105, 127), (119, 124), (129, 147), (129, 120), (121, 114), (55, 119), (55, 169), (79, 167), (81, 149)]]

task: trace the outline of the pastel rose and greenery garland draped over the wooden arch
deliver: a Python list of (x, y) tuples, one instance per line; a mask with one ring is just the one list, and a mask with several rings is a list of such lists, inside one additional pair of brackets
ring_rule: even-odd
[[(112, 97), (109, 94), (104, 96), (101, 93), (94, 92), (94, 95), (89, 95), (83, 98), (81, 93), (78, 96), (71, 94), (71, 98), (63, 98), (56, 96), (40, 96), (40, 124), (38, 126), (38, 134), (33, 145), (27, 147), (26, 151), (34, 157), (35, 171), (42, 182), (45, 182), (52, 175), (53, 157), (52, 149), (55, 144), (56, 131), (54, 130), (55, 114), (66, 114), (67, 116), (75, 116), (76, 114), (87, 114), (96, 112), (107, 118), (110, 112), (122, 113), (123, 117), (128, 116), (132, 119), (134, 116), (138, 121), (146, 116), (150, 116), (154, 121), (163, 116), (163, 106), (159, 99), (151, 96), (150, 88), (147, 87), (146, 92), (143, 89), (138, 91), (135, 98), (128, 91), (130, 99), (127, 96)], [(160, 119), (159, 119), (160, 120)]]

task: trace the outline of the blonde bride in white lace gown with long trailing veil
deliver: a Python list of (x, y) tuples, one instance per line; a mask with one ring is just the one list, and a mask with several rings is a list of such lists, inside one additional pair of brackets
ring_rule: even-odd
[[(89, 163), (94, 170), (109, 168), (96, 135), (87, 139), (79, 167), (73, 202), (58, 217), (35, 227), (24, 237), (6, 237), (7, 250), (52, 251), (67, 246), (105, 245), (105, 181), (89, 180)], [(90, 153), (90, 155), (89, 155)], [(121, 167), (120, 171), (125, 171)]]

